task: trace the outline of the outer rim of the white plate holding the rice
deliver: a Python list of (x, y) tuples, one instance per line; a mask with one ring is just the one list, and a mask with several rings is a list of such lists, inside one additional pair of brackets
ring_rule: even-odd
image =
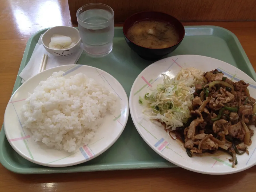
[[(117, 137), (115, 137), (115, 139), (113, 139), (113, 141), (107, 146), (105, 147), (103, 150), (101, 150), (99, 153), (95, 154), (93, 157), (91, 158), (88, 158), (88, 159), (82, 159), (80, 161), (76, 161), (76, 162), (73, 162), (73, 163), (64, 163), (64, 164), (52, 164), (52, 163), (42, 163), (40, 161), (37, 161), (37, 160), (34, 160), (32, 158), (29, 158), (27, 157), (25, 154), (23, 154), (15, 145), (13, 142), (9, 141), (9, 138), (7, 137), (6, 135), (6, 126), (5, 126), (5, 119), (7, 118), (6, 117), (6, 109), (8, 106), (6, 106), (5, 108), (5, 113), (4, 113), (4, 118), (3, 118), (3, 127), (4, 127), (4, 131), (5, 131), (5, 136), (7, 138), (7, 141), (9, 142), (9, 144), (11, 145), (11, 147), (15, 150), (16, 153), (18, 153), (19, 155), (21, 155), (21, 157), (25, 158), (26, 160), (32, 162), (32, 163), (35, 163), (35, 164), (38, 164), (38, 165), (42, 165), (42, 166), (46, 166), (46, 167), (69, 167), (69, 166), (73, 166), (73, 165), (78, 165), (78, 164), (81, 164), (81, 163), (85, 163), (87, 161), (90, 161), (96, 157), (98, 157), (99, 155), (101, 155), (102, 153), (104, 153), (106, 150), (108, 150), (116, 141), (117, 139), (121, 136), (121, 134), (123, 133), (123, 130), (125, 129), (125, 126), (127, 124), (127, 121), (128, 121), (128, 118), (129, 118), (129, 112), (130, 112), (130, 107), (129, 107), (129, 99), (128, 99), (128, 96), (126, 94), (126, 91), (125, 89), (123, 88), (123, 86), (121, 85), (121, 83), (115, 78), (113, 77), (113, 75), (107, 73), (106, 71), (102, 70), (102, 69), (99, 69), (97, 67), (93, 67), (93, 66), (89, 66), (89, 65), (76, 65), (76, 64), (71, 64), (71, 65), (61, 65), (61, 66), (56, 66), (56, 67), (52, 67), (50, 69), (47, 69), (47, 70), (44, 70), (42, 71), (41, 73), (46, 73), (47, 71), (49, 70), (55, 70), (56, 68), (61, 68), (61, 67), (65, 67), (65, 66), (70, 66), (70, 67), (74, 67), (74, 66), (81, 66), (81, 67), (89, 67), (89, 68), (94, 68), (94, 69), (97, 69), (97, 70), (101, 70), (103, 71), (104, 73), (110, 75), (110, 77), (112, 77), (121, 87), (122, 87), (122, 91), (125, 93), (125, 103), (126, 103), (126, 109), (127, 109), (127, 112), (126, 112), (126, 117), (125, 117), (125, 123), (123, 124), (123, 127), (122, 129), (120, 130), (119, 134), (117, 135)], [(56, 71), (54, 71), (56, 72)], [(38, 73), (38, 74), (41, 74), (41, 73)], [(22, 83), (21, 86), (18, 87), (18, 89), (11, 95), (8, 103), (11, 101), (11, 99), (13, 98), (13, 96), (16, 94), (16, 92), (21, 89), (21, 87), (23, 87), (24, 85), (26, 85), (27, 83), (29, 83), (30, 81), (33, 80), (33, 78), (35, 78), (38, 74), (34, 75), (33, 77), (30, 77), (27, 81), (25, 81), (24, 83)], [(76, 73), (77, 74), (77, 73)], [(40, 80), (40, 81), (43, 81), (43, 80)], [(102, 83), (101, 83), (102, 84)], [(7, 105), (8, 105), (7, 103)], [(56, 149), (55, 149), (56, 150)]]

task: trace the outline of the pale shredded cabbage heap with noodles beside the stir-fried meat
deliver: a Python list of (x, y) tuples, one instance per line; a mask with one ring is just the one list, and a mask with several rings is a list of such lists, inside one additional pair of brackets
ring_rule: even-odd
[(166, 129), (175, 130), (190, 118), (195, 84), (203, 83), (203, 72), (195, 68), (182, 69), (171, 79), (162, 74), (163, 84), (158, 84), (151, 94), (147, 93), (144, 114), (150, 119), (166, 124)]

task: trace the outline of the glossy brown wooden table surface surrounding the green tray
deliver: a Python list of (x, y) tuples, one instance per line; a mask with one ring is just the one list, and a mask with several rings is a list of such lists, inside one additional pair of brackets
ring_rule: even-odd
[[(0, 0), (0, 124), (29, 37), (56, 25), (71, 26), (66, 0)], [(218, 25), (237, 35), (256, 69), (256, 21), (183, 22)], [(0, 165), (0, 189), (11, 191), (255, 191), (256, 166), (241, 173), (213, 176), (181, 168), (93, 173), (18, 175)], [(211, 185), (211, 186), (210, 186)]]

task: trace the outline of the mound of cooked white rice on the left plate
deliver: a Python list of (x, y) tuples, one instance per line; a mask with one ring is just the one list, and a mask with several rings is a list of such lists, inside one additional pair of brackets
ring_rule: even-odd
[(117, 96), (85, 74), (65, 78), (63, 73), (39, 83), (21, 117), (36, 142), (73, 152), (89, 143), (107, 111), (114, 112)]

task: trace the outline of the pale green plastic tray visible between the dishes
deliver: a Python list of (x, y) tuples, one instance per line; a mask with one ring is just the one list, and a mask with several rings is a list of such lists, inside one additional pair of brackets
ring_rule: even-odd
[[(42, 33), (32, 35), (21, 61), (19, 73), (29, 61), (34, 47)], [(256, 74), (237, 37), (230, 31), (216, 26), (186, 26), (185, 38), (170, 55), (195, 54), (220, 59), (241, 69), (256, 80)], [(122, 27), (115, 27), (113, 51), (103, 58), (90, 58), (85, 53), (77, 64), (100, 68), (113, 75), (124, 87), (128, 97), (131, 86), (139, 73), (150, 63), (138, 57), (125, 42)], [(17, 76), (13, 92), (21, 85)], [(70, 173), (121, 169), (147, 169), (176, 167), (155, 153), (138, 134), (129, 116), (125, 130), (109, 150), (89, 162), (71, 167), (44, 167), (27, 161), (10, 146), (2, 127), (0, 133), (0, 162), (6, 169), (20, 174)]]

